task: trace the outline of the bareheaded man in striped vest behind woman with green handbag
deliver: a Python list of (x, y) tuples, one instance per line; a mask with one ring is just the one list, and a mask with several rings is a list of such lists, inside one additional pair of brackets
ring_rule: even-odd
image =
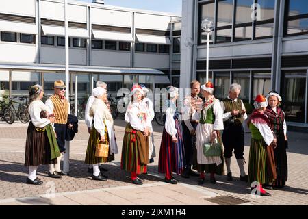
[(200, 82), (192, 81), (190, 83), (191, 94), (184, 99), (184, 105), (188, 106), (187, 118), (182, 122), (183, 128), (183, 142), (185, 149), (185, 162), (186, 167), (181, 177), (189, 178), (190, 176), (198, 177), (199, 175), (192, 171), (192, 164), (196, 163), (196, 127), (199, 123), (201, 107), (203, 101), (198, 94), (200, 93)]

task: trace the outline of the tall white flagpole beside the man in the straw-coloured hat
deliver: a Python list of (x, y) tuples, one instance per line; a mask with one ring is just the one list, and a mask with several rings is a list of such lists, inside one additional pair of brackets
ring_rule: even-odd
[[(66, 100), (69, 93), (69, 56), (68, 56), (68, 19), (67, 19), (67, 0), (64, 0), (64, 23), (65, 23), (65, 83), (66, 83)], [(66, 153), (64, 153), (63, 170), (70, 172), (70, 142), (65, 142)]]

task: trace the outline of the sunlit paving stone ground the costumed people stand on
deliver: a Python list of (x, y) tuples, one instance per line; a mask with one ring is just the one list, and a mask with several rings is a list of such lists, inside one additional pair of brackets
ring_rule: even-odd
[[(123, 140), (125, 123), (115, 120), (119, 152)], [(127, 172), (120, 170), (120, 153), (115, 161), (103, 164), (109, 176), (107, 181), (92, 181), (84, 164), (88, 131), (81, 121), (79, 133), (70, 143), (70, 175), (62, 179), (47, 177), (47, 166), (38, 168), (38, 177), (43, 185), (27, 185), (27, 167), (23, 166), (27, 124), (7, 125), (0, 122), (0, 205), (216, 205), (206, 199), (215, 196), (232, 196), (246, 200), (248, 205), (308, 205), (308, 136), (305, 133), (288, 133), (290, 149), (289, 179), (283, 190), (269, 190), (272, 197), (255, 198), (249, 194), (249, 186), (238, 181), (240, 172), (235, 157), (231, 159), (234, 180), (217, 176), (218, 183), (197, 185), (198, 177), (184, 179), (177, 185), (164, 183), (163, 175), (157, 173), (158, 155), (162, 129), (154, 125), (155, 149), (157, 157), (149, 165), (144, 185), (133, 185)], [(249, 134), (246, 144), (249, 145)], [(249, 146), (245, 146), (245, 170), (248, 168)], [(55, 198), (48, 196), (54, 194)]]

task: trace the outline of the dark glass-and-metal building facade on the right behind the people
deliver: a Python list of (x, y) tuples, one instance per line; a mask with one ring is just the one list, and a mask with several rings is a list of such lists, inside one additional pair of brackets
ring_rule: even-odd
[(205, 82), (207, 59), (203, 19), (214, 22), (209, 80), (218, 98), (240, 83), (240, 98), (277, 90), (288, 125), (308, 128), (308, 1), (183, 0), (181, 87)]

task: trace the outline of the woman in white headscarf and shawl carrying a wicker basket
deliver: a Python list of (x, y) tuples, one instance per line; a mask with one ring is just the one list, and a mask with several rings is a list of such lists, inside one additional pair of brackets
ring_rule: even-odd
[[(118, 153), (118, 146), (114, 138), (114, 120), (105, 104), (107, 90), (97, 87), (93, 89), (93, 94), (95, 99), (89, 114), (94, 118), (94, 123), (88, 141), (85, 163), (93, 165), (92, 179), (105, 181), (107, 176), (101, 173), (99, 164), (113, 161), (114, 154)], [(95, 149), (100, 140), (109, 144), (108, 157), (95, 157)]]

